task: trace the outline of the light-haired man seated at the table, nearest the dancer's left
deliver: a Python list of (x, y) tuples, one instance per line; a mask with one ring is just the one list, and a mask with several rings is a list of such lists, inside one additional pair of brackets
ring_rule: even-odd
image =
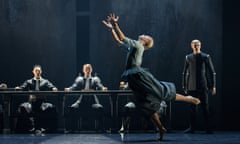
[[(71, 91), (71, 90), (84, 90), (84, 91), (88, 91), (88, 90), (107, 90), (107, 87), (104, 87), (103, 84), (101, 83), (101, 80), (99, 77), (97, 76), (92, 76), (92, 65), (91, 64), (85, 64), (83, 65), (83, 73), (84, 76), (78, 76), (75, 79), (75, 82), (73, 83), (72, 86), (65, 88), (65, 91)], [(80, 105), (81, 104), (81, 105)], [(90, 109), (86, 109), (86, 107), (91, 107)], [(79, 110), (77, 110), (77, 108), (79, 108), (80, 110), (85, 110), (83, 113), (86, 117), (89, 116), (94, 116), (95, 119), (99, 119), (100, 121), (102, 121), (103, 118), (103, 106), (100, 104), (99, 99), (96, 95), (93, 96), (83, 96), (80, 95), (80, 97), (77, 99), (77, 101), (75, 103), (73, 103), (70, 107), (70, 114), (69, 114), (69, 118), (70, 118), (70, 129), (71, 130), (76, 130), (76, 125), (78, 122), (78, 116), (76, 117), (76, 115), (79, 115)], [(77, 110), (77, 111), (76, 111)], [(88, 110), (88, 112), (86, 112), (86, 110)], [(96, 112), (96, 114), (92, 113)], [(82, 114), (83, 114), (82, 113)], [(87, 114), (90, 114), (89, 116), (86, 116)], [(82, 117), (84, 118), (84, 117)], [(95, 125), (96, 128), (96, 125)]]

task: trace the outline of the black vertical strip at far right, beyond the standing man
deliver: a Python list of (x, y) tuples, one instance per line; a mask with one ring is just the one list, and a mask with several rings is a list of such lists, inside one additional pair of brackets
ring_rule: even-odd
[(240, 9), (234, 0), (224, 1), (223, 5), (223, 88), (220, 91), (223, 95), (223, 125), (227, 130), (239, 130)]

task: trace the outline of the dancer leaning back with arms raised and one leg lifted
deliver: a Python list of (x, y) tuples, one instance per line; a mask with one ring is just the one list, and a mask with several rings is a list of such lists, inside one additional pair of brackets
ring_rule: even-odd
[(149, 35), (140, 35), (138, 40), (126, 37), (118, 25), (118, 19), (119, 17), (115, 14), (110, 14), (102, 23), (110, 29), (114, 40), (128, 50), (126, 69), (122, 78), (127, 79), (133, 91), (136, 106), (158, 127), (160, 135), (158, 140), (162, 140), (166, 129), (157, 113), (161, 101), (176, 100), (197, 105), (200, 100), (192, 96), (177, 94), (173, 83), (159, 82), (149, 71), (143, 69), (141, 64), (144, 50), (152, 48), (154, 40)]

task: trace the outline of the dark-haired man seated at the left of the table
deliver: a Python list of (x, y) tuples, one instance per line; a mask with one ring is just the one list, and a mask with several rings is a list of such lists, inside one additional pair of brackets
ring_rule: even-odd
[[(25, 91), (57, 91), (58, 89), (47, 79), (44, 79), (40, 65), (33, 67), (34, 77), (26, 80), (16, 90)], [(46, 102), (45, 96), (30, 95), (29, 101), (20, 104), (15, 132), (43, 133), (53, 132), (57, 128), (57, 111), (55, 106)]]

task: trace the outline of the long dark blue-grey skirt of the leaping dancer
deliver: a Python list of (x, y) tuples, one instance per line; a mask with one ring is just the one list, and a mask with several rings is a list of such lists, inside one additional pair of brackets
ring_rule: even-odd
[(176, 88), (171, 82), (158, 81), (147, 70), (135, 67), (126, 70), (123, 75), (133, 91), (133, 101), (136, 106), (150, 118), (158, 112), (162, 101), (176, 99)]

